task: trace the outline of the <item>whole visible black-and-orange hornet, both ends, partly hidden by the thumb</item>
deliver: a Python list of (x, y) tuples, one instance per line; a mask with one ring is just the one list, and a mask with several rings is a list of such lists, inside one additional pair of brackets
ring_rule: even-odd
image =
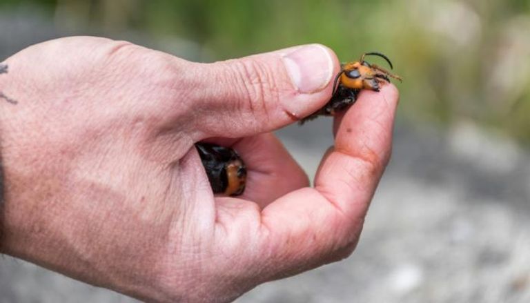
[[(366, 56), (382, 57), (393, 69), (390, 59), (380, 52), (366, 52), (359, 61), (342, 64), (340, 72), (333, 81), (331, 99), (315, 113), (300, 120), (300, 124), (321, 115), (333, 116), (346, 110), (355, 103), (361, 90), (378, 92), (382, 84), (390, 82), (390, 78), (402, 81), (401, 77), (365, 61)], [(235, 150), (206, 143), (197, 143), (195, 148), (199, 152), (214, 193), (241, 195), (244, 192), (246, 166)]]

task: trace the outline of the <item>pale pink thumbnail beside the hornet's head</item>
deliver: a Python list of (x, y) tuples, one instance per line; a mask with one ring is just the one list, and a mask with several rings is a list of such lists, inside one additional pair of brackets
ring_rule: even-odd
[(324, 46), (303, 46), (284, 55), (283, 59), (291, 81), (300, 92), (317, 92), (331, 81), (333, 59)]

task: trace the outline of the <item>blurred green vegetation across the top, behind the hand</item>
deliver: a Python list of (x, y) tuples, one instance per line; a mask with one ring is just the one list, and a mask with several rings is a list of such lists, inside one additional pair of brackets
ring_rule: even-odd
[(530, 143), (530, 0), (0, 0), (21, 5), (57, 26), (182, 37), (216, 60), (315, 42), (344, 61), (378, 50), (404, 78), (400, 115)]

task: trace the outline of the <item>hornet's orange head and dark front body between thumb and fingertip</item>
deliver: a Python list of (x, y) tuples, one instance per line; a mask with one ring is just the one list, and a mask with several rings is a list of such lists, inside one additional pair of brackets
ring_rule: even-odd
[(331, 99), (320, 110), (300, 120), (300, 124), (313, 120), (320, 115), (333, 116), (335, 113), (349, 108), (357, 100), (360, 90), (378, 92), (382, 84), (390, 82), (390, 78), (401, 81), (401, 77), (365, 61), (364, 57), (366, 56), (382, 57), (389, 63), (390, 68), (393, 68), (390, 59), (379, 52), (367, 52), (361, 56), (359, 61), (343, 64), (340, 72), (335, 76)]

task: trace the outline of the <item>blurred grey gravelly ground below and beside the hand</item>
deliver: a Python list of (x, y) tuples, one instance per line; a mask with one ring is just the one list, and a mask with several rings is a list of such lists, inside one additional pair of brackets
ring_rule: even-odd
[[(0, 60), (60, 35), (27, 12), (0, 14), (0, 28)], [(330, 129), (317, 119), (278, 135), (314, 175)], [(530, 302), (529, 184), (530, 155), (507, 139), (470, 123), (442, 131), (397, 121), (355, 253), (237, 302)], [(3, 257), (0, 302), (136, 301)]]

